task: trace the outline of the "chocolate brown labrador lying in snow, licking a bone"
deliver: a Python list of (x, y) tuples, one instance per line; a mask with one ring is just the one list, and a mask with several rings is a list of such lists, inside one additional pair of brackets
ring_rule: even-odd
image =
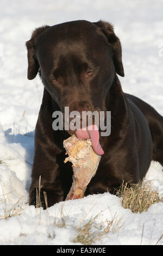
[(110, 135), (101, 136), (99, 130), (91, 137), (102, 158), (85, 196), (112, 193), (123, 180), (138, 182), (152, 160), (163, 165), (163, 118), (146, 102), (123, 93), (117, 76), (124, 76), (121, 43), (110, 23), (79, 20), (39, 27), (26, 46), (28, 79), (39, 72), (44, 85), (35, 129), (30, 205), (36, 205), (40, 175), (44, 209), (65, 200), (72, 185), (72, 164), (64, 163), (63, 141), (73, 133), (86, 139), (89, 132), (53, 130), (53, 112), (64, 115), (65, 107), (79, 113), (111, 111)]

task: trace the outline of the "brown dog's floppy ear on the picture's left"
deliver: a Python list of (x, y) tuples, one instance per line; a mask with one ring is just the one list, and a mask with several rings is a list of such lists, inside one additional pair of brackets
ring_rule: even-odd
[(43, 31), (45, 31), (49, 26), (43, 26), (40, 28), (36, 28), (33, 33), (32, 37), (29, 41), (26, 42), (26, 47), (28, 51), (28, 79), (32, 80), (37, 75), (37, 72), (39, 71), (39, 62), (36, 59), (35, 56), (35, 47), (37, 44), (37, 35), (41, 34)]

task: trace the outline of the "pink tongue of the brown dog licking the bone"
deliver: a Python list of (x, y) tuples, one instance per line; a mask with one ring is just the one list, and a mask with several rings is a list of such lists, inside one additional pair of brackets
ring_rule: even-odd
[(78, 139), (91, 139), (92, 148), (95, 153), (98, 155), (104, 154), (104, 151), (99, 144), (99, 131), (97, 125), (88, 126), (85, 130), (77, 130), (76, 136), (78, 137)]

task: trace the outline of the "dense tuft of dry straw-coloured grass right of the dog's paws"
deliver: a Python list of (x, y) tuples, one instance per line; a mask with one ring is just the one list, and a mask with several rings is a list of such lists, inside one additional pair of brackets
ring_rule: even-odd
[(140, 181), (138, 184), (128, 186), (122, 183), (117, 190), (118, 197), (122, 197), (121, 203), (125, 209), (130, 209), (132, 212), (147, 211), (152, 204), (163, 202), (163, 198), (159, 196), (157, 190), (152, 188), (149, 181)]

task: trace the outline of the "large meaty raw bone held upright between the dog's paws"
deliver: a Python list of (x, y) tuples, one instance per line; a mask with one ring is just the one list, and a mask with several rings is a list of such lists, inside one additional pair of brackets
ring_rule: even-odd
[(73, 164), (73, 182), (66, 200), (83, 198), (87, 185), (96, 174), (101, 155), (93, 151), (91, 139), (78, 139), (76, 135), (64, 141), (64, 148), (68, 154), (64, 162)]

